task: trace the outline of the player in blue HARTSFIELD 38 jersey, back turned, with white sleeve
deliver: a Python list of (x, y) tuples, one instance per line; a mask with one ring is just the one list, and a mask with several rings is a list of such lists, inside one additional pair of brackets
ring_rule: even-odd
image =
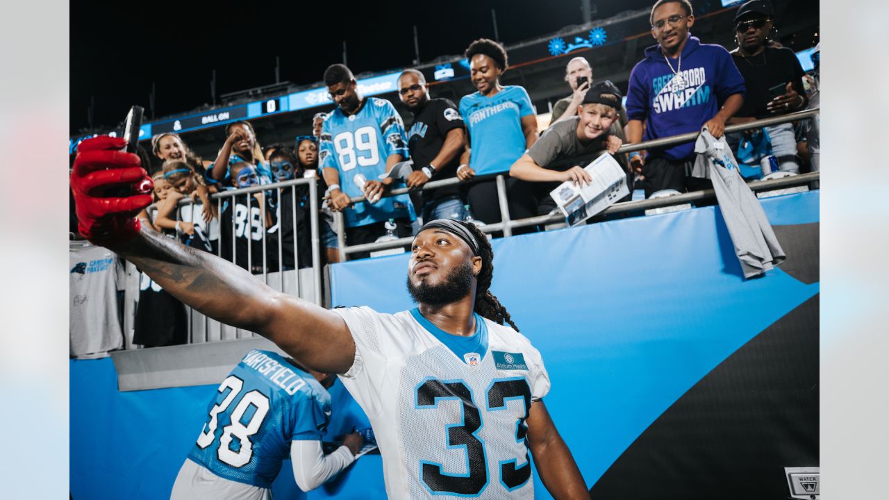
[(348, 434), (330, 455), (321, 450), (331, 416), (325, 387), (332, 380), (275, 352), (248, 352), (210, 401), (171, 499), (271, 498), (272, 481), (287, 457), (303, 491), (346, 468), (361, 448), (360, 434)]

